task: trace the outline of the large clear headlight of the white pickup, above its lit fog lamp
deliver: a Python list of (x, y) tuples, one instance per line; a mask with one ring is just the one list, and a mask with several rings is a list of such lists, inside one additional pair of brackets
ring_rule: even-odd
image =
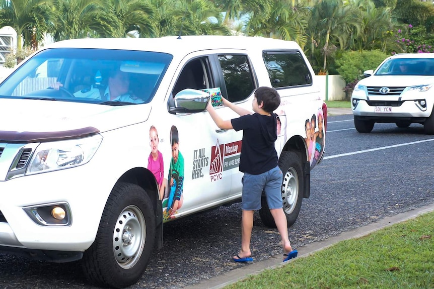
[(91, 160), (103, 137), (41, 143), (33, 153), (26, 175), (83, 165)]

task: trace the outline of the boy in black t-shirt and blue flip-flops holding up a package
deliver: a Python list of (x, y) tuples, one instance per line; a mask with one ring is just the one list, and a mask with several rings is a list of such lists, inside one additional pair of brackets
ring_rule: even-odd
[(243, 148), (240, 156), (242, 179), (242, 217), (241, 217), (241, 250), (233, 256), (235, 262), (251, 262), (250, 239), (253, 228), (253, 214), (261, 209), (261, 195), (265, 191), (268, 208), (279, 231), (283, 261), (295, 258), (297, 250), (293, 250), (288, 239), (286, 216), (282, 209), (282, 172), (278, 167), (277, 152), (274, 142), (277, 139), (277, 121), (273, 111), (280, 105), (280, 96), (276, 89), (259, 87), (253, 97), (253, 113), (222, 98), (223, 104), (229, 107), (239, 118), (224, 121), (216, 114), (211, 103), (207, 110), (215, 124), (221, 129), (243, 130)]

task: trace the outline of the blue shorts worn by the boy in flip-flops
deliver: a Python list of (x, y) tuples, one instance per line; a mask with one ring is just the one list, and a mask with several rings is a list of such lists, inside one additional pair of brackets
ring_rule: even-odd
[(282, 202), (282, 171), (278, 166), (261, 174), (244, 173), (241, 209), (253, 211), (261, 209), (262, 191), (265, 191), (269, 209), (280, 209)]

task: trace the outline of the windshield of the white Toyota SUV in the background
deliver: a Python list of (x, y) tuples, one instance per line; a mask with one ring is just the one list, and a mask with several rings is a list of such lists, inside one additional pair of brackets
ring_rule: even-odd
[(392, 58), (375, 75), (434, 75), (434, 58)]

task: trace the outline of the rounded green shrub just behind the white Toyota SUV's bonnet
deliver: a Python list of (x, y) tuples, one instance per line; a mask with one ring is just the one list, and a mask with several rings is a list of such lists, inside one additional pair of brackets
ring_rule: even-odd
[(380, 50), (344, 51), (342, 57), (336, 59), (336, 70), (348, 84), (363, 78), (365, 70), (377, 68), (387, 57)]

